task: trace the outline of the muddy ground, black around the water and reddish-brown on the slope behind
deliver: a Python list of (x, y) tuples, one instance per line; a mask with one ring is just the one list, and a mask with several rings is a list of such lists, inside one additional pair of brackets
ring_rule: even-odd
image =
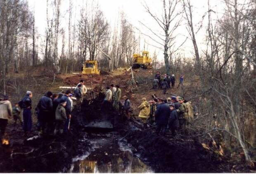
[[(71, 130), (61, 137), (48, 136), (26, 141), (21, 127), (14, 127), (13, 121), (10, 121), (7, 127), (9, 136), (7, 136), (7, 139), (10, 145), (0, 146), (0, 172), (86, 172), (84, 170), (80, 171), (80, 169), (71, 170), (74, 167), (74, 159), (83, 159), (84, 154), (91, 153), (92, 157), (89, 155), (90, 159), (98, 160), (104, 166), (103, 163), (108, 163), (111, 156), (108, 156), (108, 158), (100, 156), (100, 159), (96, 157), (107, 152), (109, 150), (107, 147), (114, 146), (112, 141), (129, 146), (129, 155), (139, 158), (143, 164), (152, 169), (152, 172), (233, 172), (234, 166), (239, 166), (220, 157), (220, 155), (216, 155), (212, 149), (204, 148), (199, 143), (199, 137), (193, 138), (181, 135), (171, 137), (170, 134), (165, 137), (157, 136), (154, 133), (154, 127), (144, 128), (140, 119), (137, 118), (137, 106), (140, 104), (141, 98), (152, 99), (151, 94), (167, 98), (171, 94), (164, 95), (161, 90), (152, 89), (152, 84), (149, 82), (153, 78), (152, 72), (140, 70), (134, 73), (136, 74), (137, 90), (130, 87), (131, 75), (128, 72), (123, 72), (123, 75), (106, 74), (95, 77), (74, 75), (64, 78), (63, 85), (73, 86), (83, 79), (85, 84), (88, 84), (87, 86), (90, 87), (90, 84), (92, 84), (97, 92), (111, 83), (120, 85), (122, 95), (128, 95), (132, 101), (132, 119), (129, 121), (123, 114), (111, 109), (102, 111), (103, 96), (100, 95), (93, 102), (91, 101), (91, 104), (89, 104), (89, 99), (84, 100), (81, 108), (76, 107), (74, 109)], [(57, 89), (55, 90), (57, 91)], [(178, 90), (180, 89), (171, 89), (168, 92), (180, 93)], [(102, 118), (113, 122), (114, 129), (88, 130), (85, 128), (90, 120)], [(97, 134), (95, 131), (100, 131), (100, 133)], [(30, 136), (36, 135), (36, 132), (30, 134)], [(95, 142), (94, 139), (107, 139), (108, 141), (95, 150), (95, 144), (92, 143)], [(110, 139), (111, 142), (108, 143)], [(96, 143), (100, 144), (99, 141), (96, 141)], [(211, 144), (208, 144), (210, 147)], [(108, 153), (113, 155), (117, 152), (110, 150)], [(96, 157), (93, 155), (96, 155)], [(130, 158), (127, 154), (118, 155), (121, 156), (121, 159)], [(112, 166), (117, 164), (119, 163), (113, 162)], [(123, 169), (114, 171), (126, 172)], [(138, 170), (129, 171), (143, 172)], [(235, 171), (251, 172), (250, 170), (244, 170), (244, 168)]]

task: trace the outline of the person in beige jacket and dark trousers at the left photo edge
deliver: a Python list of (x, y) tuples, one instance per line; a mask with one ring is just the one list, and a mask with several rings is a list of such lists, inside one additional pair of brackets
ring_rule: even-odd
[(8, 120), (12, 117), (12, 104), (8, 100), (7, 95), (3, 96), (3, 100), (0, 101), (0, 140), (5, 136), (5, 129), (8, 124)]

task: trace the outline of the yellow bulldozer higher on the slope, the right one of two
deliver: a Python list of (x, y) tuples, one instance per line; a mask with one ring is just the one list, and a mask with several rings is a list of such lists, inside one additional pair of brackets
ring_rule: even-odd
[(151, 69), (152, 68), (152, 59), (149, 58), (149, 52), (143, 51), (142, 55), (133, 54), (133, 69), (143, 68)]

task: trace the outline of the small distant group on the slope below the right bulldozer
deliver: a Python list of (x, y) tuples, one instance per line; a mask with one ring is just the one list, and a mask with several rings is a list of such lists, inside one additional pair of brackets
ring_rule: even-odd
[[(180, 75), (180, 82), (178, 85), (178, 88), (180, 85), (183, 84), (184, 76)], [(153, 89), (163, 89), (163, 93), (166, 94), (166, 90), (168, 88), (174, 88), (175, 87), (175, 75), (168, 75), (168, 74), (160, 74), (159, 71), (156, 72), (155, 78), (153, 80)]]

